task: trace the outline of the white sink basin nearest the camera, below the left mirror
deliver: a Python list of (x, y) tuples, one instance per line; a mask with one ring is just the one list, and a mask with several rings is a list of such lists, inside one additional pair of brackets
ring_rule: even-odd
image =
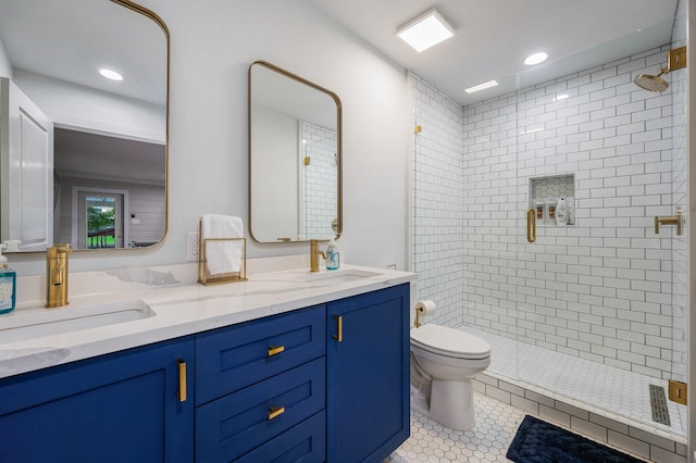
[(15, 311), (0, 315), (0, 343), (115, 325), (154, 315), (154, 311), (140, 300)]

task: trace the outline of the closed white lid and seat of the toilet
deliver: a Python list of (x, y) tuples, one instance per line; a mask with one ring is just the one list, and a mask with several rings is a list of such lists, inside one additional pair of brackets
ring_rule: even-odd
[(490, 345), (485, 340), (432, 323), (411, 328), (411, 343), (430, 352), (458, 359), (485, 359), (490, 355)]

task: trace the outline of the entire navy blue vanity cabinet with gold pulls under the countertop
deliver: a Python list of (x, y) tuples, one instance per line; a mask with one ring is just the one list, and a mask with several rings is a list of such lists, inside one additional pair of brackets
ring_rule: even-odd
[(408, 304), (407, 284), (0, 379), (0, 462), (380, 462), (409, 435)]

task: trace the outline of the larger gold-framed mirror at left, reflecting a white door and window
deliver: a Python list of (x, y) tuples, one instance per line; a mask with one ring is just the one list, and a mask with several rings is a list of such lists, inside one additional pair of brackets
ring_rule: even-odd
[(149, 10), (0, 0), (0, 240), (18, 251), (159, 242), (167, 84), (169, 33)]

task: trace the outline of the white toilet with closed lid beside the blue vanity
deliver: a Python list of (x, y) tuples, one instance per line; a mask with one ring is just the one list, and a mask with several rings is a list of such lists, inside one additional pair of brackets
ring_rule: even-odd
[(434, 324), (411, 328), (411, 406), (452, 429), (475, 425), (472, 378), (490, 364), (490, 345)]

